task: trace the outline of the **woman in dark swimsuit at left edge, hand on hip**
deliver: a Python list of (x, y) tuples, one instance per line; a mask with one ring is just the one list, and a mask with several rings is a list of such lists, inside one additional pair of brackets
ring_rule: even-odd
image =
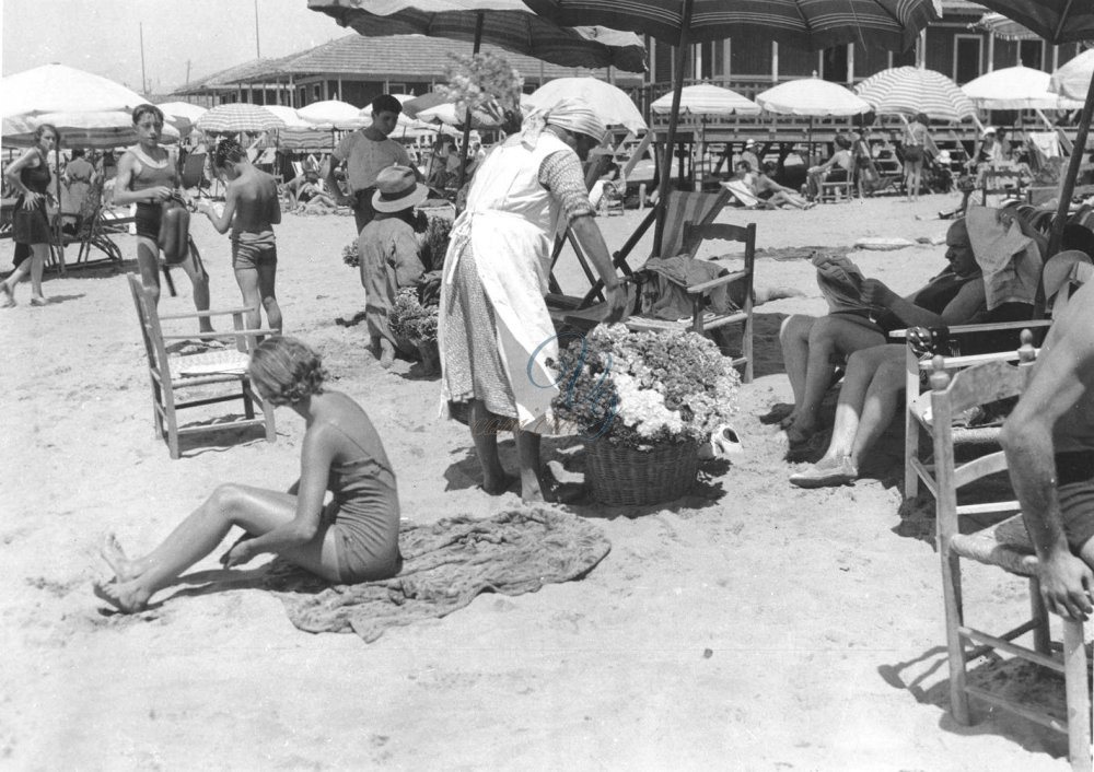
[(57, 127), (43, 124), (34, 131), (34, 147), (15, 159), (7, 169), (9, 185), (18, 192), (12, 236), (15, 242), (15, 270), (0, 282), (4, 308), (15, 305), (15, 285), (31, 276), (31, 305), (48, 305), (42, 294), (42, 272), (49, 257), (49, 215), (46, 203), (50, 198), (49, 151), (60, 140)]

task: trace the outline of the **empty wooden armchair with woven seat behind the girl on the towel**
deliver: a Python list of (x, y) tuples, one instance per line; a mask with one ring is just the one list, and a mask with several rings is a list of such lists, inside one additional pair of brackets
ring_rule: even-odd
[[(181, 455), (178, 438), (182, 435), (217, 432), (223, 429), (265, 426), (266, 440), (275, 442), (274, 407), (260, 399), (251, 386), (246, 366), (254, 350), (256, 339), (277, 335), (275, 330), (248, 330), (243, 315), (249, 308), (226, 311), (202, 311), (190, 314), (160, 316), (155, 301), (144, 289), (140, 277), (129, 274), (137, 318), (140, 321), (144, 353), (148, 356), (148, 372), (152, 386), (152, 421), (155, 435), (167, 443), (172, 458)], [(234, 329), (228, 332), (200, 332), (190, 335), (164, 335), (161, 321), (195, 319), (201, 316), (231, 316)], [(235, 348), (189, 356), (168, 355), (165, 341), (168, 340), (214, 340), (228, 339)], [(186, 389), (198, 389), (199, 396), (189, 401), (178, 401), (177, 394)], [(213, 394), (210, 394), (212, 391)], [(207, 405), (241, 400), (243, 416), (206, 421), (186, 426), (178, 425), (177, 411)], [(261, 416), (255, 412), (255, 406)]]

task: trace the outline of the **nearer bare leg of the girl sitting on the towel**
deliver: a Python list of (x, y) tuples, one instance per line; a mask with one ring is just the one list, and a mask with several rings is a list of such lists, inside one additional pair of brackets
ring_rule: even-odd
[[(246, 486), (220, 486), (155, 550), (124, 566), (133, 578), (119, 577), (117, 582), (96, 585), (96, 595), (127, 613), (139, 611), (156, 590), (212, 552), (232, 526), (260, 536), (295, 516), (294, 495)], [(311, 541), (280, 554), (324, 578), (337, 581), (335, 540), (328, 533), (327, 526), (321, 526)]]

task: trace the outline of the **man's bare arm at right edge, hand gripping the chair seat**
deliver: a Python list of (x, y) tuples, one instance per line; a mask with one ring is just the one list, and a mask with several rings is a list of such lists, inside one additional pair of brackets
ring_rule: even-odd
[[(1079, 300), (1080, 294), (1084, 295)], [(1052, 430), (1094, 388), (1094, 284), (1075, 295), (1049, 332), (1033, 379), (1003, 424), (1000, 443), (1011, 481), (1040, 561), (1040, 593), (1048, 609), (1085, 619), (1092, 606), (1094, 571), (1071, 553), (1057, 492)]]

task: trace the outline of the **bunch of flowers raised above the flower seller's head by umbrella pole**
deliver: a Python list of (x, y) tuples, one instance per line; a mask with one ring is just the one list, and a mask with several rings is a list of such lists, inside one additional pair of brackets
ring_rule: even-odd
[(447, 85), (438, 91), (454, 102), (459, 113), (480, 110), (499, 125), (520, 116), (524, 79), (505, 59), (489, 52), (449, 56), (455, 63), (445, 70)]

